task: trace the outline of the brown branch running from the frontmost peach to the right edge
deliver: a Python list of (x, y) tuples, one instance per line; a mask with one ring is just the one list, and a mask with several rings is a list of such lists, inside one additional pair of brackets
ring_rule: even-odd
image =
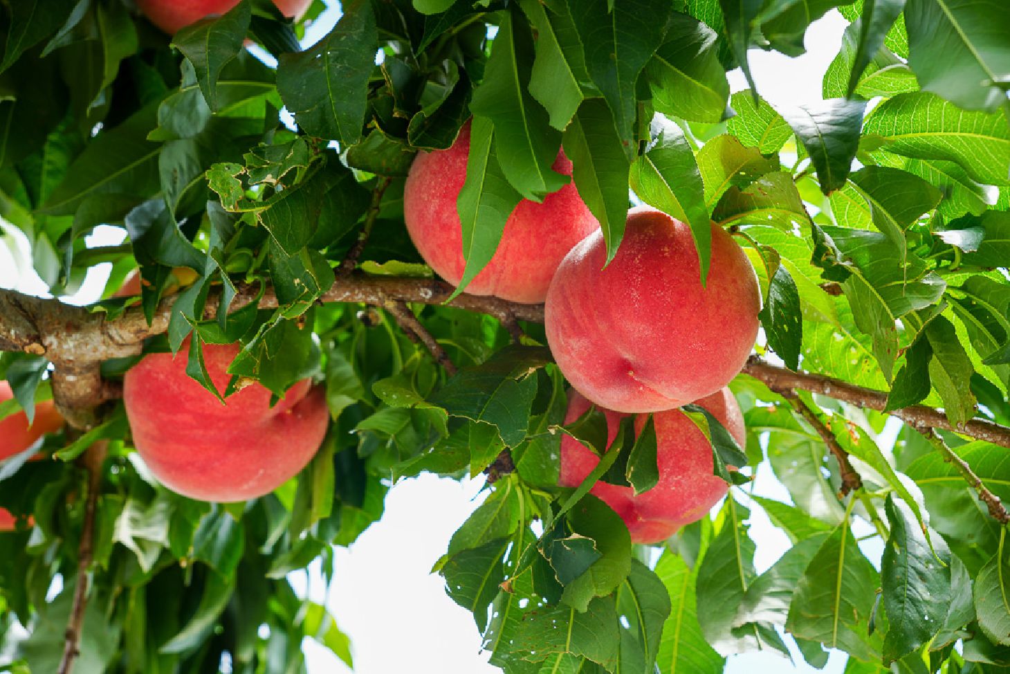
[[(805, 372), (793, 372), (786, 368), (776, 367), (765, 363), (761, 359), (751, 356), (742, 372), (754, 379), (765, 382), (774, 391), (788, 391), (801, 389), (811, 393), (820, 393), (835, 400), (847, 402), (856, 407), (876, 409), (883, 412), (887, 407), (887, 393), (875, 391), (871, 388), (864, 388), (855, 384), (843, 382), (834, 377), (826, 375), (809, 374)], [(965, 423), (954, 425), (947, 419), (946, 414), (938, 409), (926, 407), (924, 405), (912, 405), (886, 412), (891, 416), (896, 416), (906, 423), (912, 425), (925, 425), (932, 428), (943, 428), (952, 430), (963, 436), (984, 440), (994, 445), (1010, 448), (1010, 427), (993, 423), (985, 419), (971, 419)]]

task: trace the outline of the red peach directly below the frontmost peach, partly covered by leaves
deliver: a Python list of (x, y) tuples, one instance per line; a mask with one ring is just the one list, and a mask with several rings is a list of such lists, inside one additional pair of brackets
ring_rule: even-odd
[[(590, 402), (577, 391), (569, 396), (566, 423), (579, 418)], [(743, 414), (728, 388), (698, 401), (726, 426), (742, 447), (746, 440)], [(607, 417), (607, 444), (613, 443), (621, 418), (627, 416), (601, 409)], [(635, 432), (640, 432), (647, 414), (635, 416)], [(634, 543), (659, 543), (677, 531), (703, 517), (720, 498), (728, 485), (712, 474), (712, 446), (687, 414), (679, 409), (652, 415), (656, 440), (656, 464), (660, 482), (637, 496), (631, 487), (597, 482), (592, 493), (614, 509), (631, 533)], [(596, 468), (600, 458), (579, 441), (562, 439), (562, 466), (559, 484), (577, 487)]]

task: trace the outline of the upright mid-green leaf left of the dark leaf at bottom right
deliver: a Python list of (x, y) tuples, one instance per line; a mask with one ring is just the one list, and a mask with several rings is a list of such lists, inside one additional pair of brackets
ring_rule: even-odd
[(867, 643), (879, 576), (845, 520), (831, 533), (800, 578), (786, 630), (861, 660), (879, 656)]

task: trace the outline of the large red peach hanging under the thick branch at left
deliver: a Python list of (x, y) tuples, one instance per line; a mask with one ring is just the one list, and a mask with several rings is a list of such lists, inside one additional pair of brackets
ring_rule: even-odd
[[(149, 354), (123, 379), (123, 401), (140, 457), (165, 486), (205, 501), (267, 494), (294, 477), (322, 443), (329, 412), (308, 379), (274, 406), (259, 383), (225, 404), (186, 375), (189, 341), (179, 355)], [(224, 391), (239, 346), (205, 345), (204, 362)]]

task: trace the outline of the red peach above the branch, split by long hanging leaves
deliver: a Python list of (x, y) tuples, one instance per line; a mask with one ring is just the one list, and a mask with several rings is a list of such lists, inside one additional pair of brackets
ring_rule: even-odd
[[(414, 160), (403, 192), (403, 217), (418, 253), (452, 285), (463, 278), (463, 229), (457, 198), (467, 180), (470, 123), (448, 150), (422, 152)], [(553, 170), (572, 175), (572, 162), (558, 153)], [(599, 228), (574, 183), (544, 197), (523, 199), (512, 211), (501, 243), (467, 286), (474, 295), (535, 304), (542, 302), (558, 265), (573, 246)]]

